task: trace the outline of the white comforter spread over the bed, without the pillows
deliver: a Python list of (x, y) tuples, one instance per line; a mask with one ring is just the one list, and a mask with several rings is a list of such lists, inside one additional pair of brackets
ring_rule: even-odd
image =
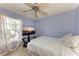
[(28, 51), (40, 56), (76, 56), (79, 49), (72, 50), (62, 43), (62, 39), (51, 37), (39, 37), (31, 40), (27, 46)]

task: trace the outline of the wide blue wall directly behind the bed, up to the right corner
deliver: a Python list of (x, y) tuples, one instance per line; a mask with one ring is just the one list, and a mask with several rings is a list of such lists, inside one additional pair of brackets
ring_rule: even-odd
[(35, 23), (37, 36), (62, 37), (67, 33), (76, 34), (76, 11), (49, 16), (36, 20)]

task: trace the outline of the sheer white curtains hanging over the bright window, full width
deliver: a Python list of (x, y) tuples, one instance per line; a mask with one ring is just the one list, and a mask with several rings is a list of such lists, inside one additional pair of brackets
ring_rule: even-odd
[(0, 15), (0, 47), (16, 48), (22, 40), (22, 21)]

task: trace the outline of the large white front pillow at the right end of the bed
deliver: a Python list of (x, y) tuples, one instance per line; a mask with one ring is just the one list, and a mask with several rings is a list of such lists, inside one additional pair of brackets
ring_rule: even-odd
[(65, 36), (63, 37), (63, 43), (67, 47), (77, 48), (79, 44), (79, 36)]

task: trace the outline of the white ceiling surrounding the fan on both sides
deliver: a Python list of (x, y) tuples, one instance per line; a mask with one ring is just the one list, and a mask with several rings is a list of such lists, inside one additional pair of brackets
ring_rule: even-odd
[[(56, 15), (62, 12), (73, 10), (78, 5), (79, 5), (78, 3), (45, 3), (45, 5), (44, 4), (40, 5), (40, 8), (43, 7), (42, 10), (48, 14), (46, 16), (51, 16), (51, 15)], [(0, 7), (19, 13), (25, 17), (34, 18), (33, 14), (29, 14), (29, 12), (27, 13), (22, 12), (24, 10), (30, 9), (28, 6), (26, 6), (23, 3), (0, 3)], [(42, 18), (46, 16), (39, 15), (38, 18)]]

